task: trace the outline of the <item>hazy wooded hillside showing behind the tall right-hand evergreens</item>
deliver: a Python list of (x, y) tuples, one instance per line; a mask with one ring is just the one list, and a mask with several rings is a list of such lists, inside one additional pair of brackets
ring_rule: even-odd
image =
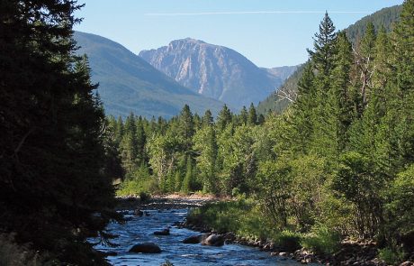
[[(356, 44), (356, 41), (364, 36), (366, 25), (368, 23), (374, 23), (375, 29), (377, 30), (383, 26), (387, 32), (391, 32), (392, 24), (399, 20), (400, 14), (401, 5), (383, 8), (382, 10), (377, 11), (374, 14), (367, 15), (356, 23), (350, 25), (345, 32), (347, 32), (349, 41)], [(297, 90), (298, 81), (302, 77), (302, 70), (303, 68), (298, 68), (290, 78), (285, 80), (284, 85), (279, 89), (286, 91)], [(257, 112), (260, 114), (267, 114), (270, 110), (272, 112), (281, 113), (289, 104), (290, 103), (287, 100), (281, 99), (274, 92), (257, 105)]]

